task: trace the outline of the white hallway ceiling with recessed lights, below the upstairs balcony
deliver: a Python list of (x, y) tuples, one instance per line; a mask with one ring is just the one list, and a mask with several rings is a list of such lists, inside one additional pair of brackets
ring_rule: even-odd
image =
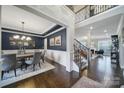
[[(75, 31), (76, 37), (83, 39), (84, 37), (88, 36), (88, 32), (91, 30), (90, 28), (92, 27), (92, 38), (110, 38), (111, 35), (116, 34), (120, 18), (121, 15), (116, 15), (111, 18), (107, 18), (102, 21), (77, 28)], [(107, 30), (107, 32), (104, 32), (105, 30)]]

